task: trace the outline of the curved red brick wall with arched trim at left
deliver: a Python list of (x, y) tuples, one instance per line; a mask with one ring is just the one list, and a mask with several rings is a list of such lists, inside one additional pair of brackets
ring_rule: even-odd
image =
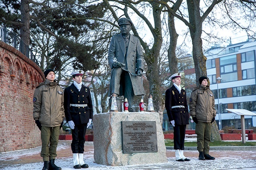
[(33, 61), (0, 41), (0, 152), (41, 145), (32, 99), (42, 81), (44, 74)]

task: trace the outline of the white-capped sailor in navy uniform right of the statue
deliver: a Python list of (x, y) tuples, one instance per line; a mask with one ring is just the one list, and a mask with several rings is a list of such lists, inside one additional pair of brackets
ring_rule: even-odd
[(165, 92), (165, 108), (174, 129), (174, 149), (177, 161), (190, 161), (183, 154), (186, 125), (189, 124), (186, 91), (181, 88), (180, 73), (171, 76), (173, 86)]

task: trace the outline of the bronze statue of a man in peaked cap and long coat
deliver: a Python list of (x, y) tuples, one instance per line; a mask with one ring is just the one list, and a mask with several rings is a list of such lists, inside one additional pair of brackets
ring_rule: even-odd
[(112, 37), (108, 51), (108, 63), (112, 69), (109, 96), (113, 93), (124, 96), (132, 109), (134, 96), (145, 95), (142, 85), (144, 57), (140, 40), (130, 34), (132, 21), (127, 18), (118, 20), (121, 33)]

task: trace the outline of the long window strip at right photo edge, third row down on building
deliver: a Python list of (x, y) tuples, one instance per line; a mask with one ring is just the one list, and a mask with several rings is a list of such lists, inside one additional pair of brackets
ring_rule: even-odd
[(256, 85), (234, 87), (232, 90), (233, 97), (255, 95)]

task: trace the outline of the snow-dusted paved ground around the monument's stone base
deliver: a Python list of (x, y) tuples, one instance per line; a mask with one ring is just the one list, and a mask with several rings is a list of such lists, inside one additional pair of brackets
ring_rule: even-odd
[[(74, 170), (71, 141), (59, 141), (56, 165), (62, 170)], [(216, 160), (198, 160), (197, 150), (185, 150), (184, 154), (191, 161), (175, 161), (174, 150), (167, 150), (168, 162), (161, 164), (140, 164), (128, 166), (104, 166), (94, 163), (93, 142), (85, 143), (84, 160), (89, 165), (87, 170), (256, 170), (255, 150), (212, 150), (210, 154)], [(0, 170), (41, 170), (41, 147), (0, 153)], [(143, 163), (143, 162), (142, 162)]]

